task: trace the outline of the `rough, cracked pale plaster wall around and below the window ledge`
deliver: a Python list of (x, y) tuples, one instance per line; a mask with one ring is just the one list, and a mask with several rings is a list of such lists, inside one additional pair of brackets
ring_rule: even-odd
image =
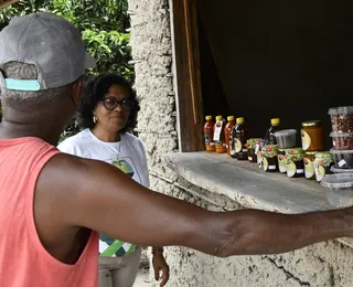
[[(147, 150), (151, 188), (214, 211), (240, 209), (225, 196), (192, 187), (165, 166), (165, 153), (178, 148), (168, 1), (129, 0), (129, 10), (141, 104), (138, 131)], [(171, 267), (170, 287), (353, 286), (353, 249), (336, 242), (277, 256), (214, 258), (183, 247), (168, 247), (165, 255)]]

